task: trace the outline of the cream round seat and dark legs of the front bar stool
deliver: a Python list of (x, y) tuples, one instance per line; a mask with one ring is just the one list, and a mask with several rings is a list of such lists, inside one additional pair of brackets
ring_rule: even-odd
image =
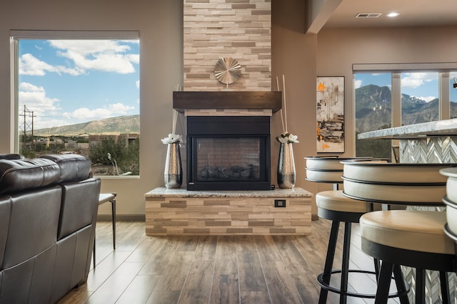
[(456, 253), (443, 231), (445, 224), (441, 211), (389, 210), (361, 216), (362, 251), (382, 261), (376, 303), (387, 303), (391, 274), (398, 266), (416, 268), (416, 303), (426, 303), (426, 270), (439, 271), (442, 303), (451, 303), (447, 273), (455, 271)]

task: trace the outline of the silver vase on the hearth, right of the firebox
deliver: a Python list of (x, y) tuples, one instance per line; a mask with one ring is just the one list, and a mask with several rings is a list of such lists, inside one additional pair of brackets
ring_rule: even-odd
[(295, 187), (295, 162), (293, 161), (292, 144), (279, 146), (278, 186), (283, 189)]

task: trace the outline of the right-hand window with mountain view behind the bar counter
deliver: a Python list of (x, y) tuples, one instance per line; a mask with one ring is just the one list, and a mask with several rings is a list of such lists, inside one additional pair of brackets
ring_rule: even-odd
[[(450, 70), (457, 63), (422, 64), (426, 72), (414, 71), (412, 64), (355, 66), (356, 135), (457, 117), (457, 72)], [(408, 72), (396, 71), (401, 68)], [(391, 140), (356, 140), (356, 156), (390, 158), (391, 145)]]

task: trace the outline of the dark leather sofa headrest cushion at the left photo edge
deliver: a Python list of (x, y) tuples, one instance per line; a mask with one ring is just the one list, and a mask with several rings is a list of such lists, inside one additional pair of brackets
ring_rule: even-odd
[(0, 194), (44, 187), (60, 175), (59, 166), (50, 159), (0, 159)]

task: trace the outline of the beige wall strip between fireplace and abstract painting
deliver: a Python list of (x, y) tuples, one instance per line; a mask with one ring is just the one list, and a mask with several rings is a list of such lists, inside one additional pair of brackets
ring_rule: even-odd
[[(316, 193), (318, 184), (305, 180), (303, 157), (316, 155), (316, 35), (304, 34), (305, 3), (301, 0), (273, 1), (271, 16), (271, 88), (280, 87), (282, 75), (286, 78), (286, 111), (288, 132), (298, 135), (293, 144), (296, 167), (296, 187)], [(273, 137), (281, 132), (281, 116), (273, 115)], [(272, 182), (276, 184), (279, 144), (271, 140)], [(312, 213), (316, 214), (316, 206)]]

